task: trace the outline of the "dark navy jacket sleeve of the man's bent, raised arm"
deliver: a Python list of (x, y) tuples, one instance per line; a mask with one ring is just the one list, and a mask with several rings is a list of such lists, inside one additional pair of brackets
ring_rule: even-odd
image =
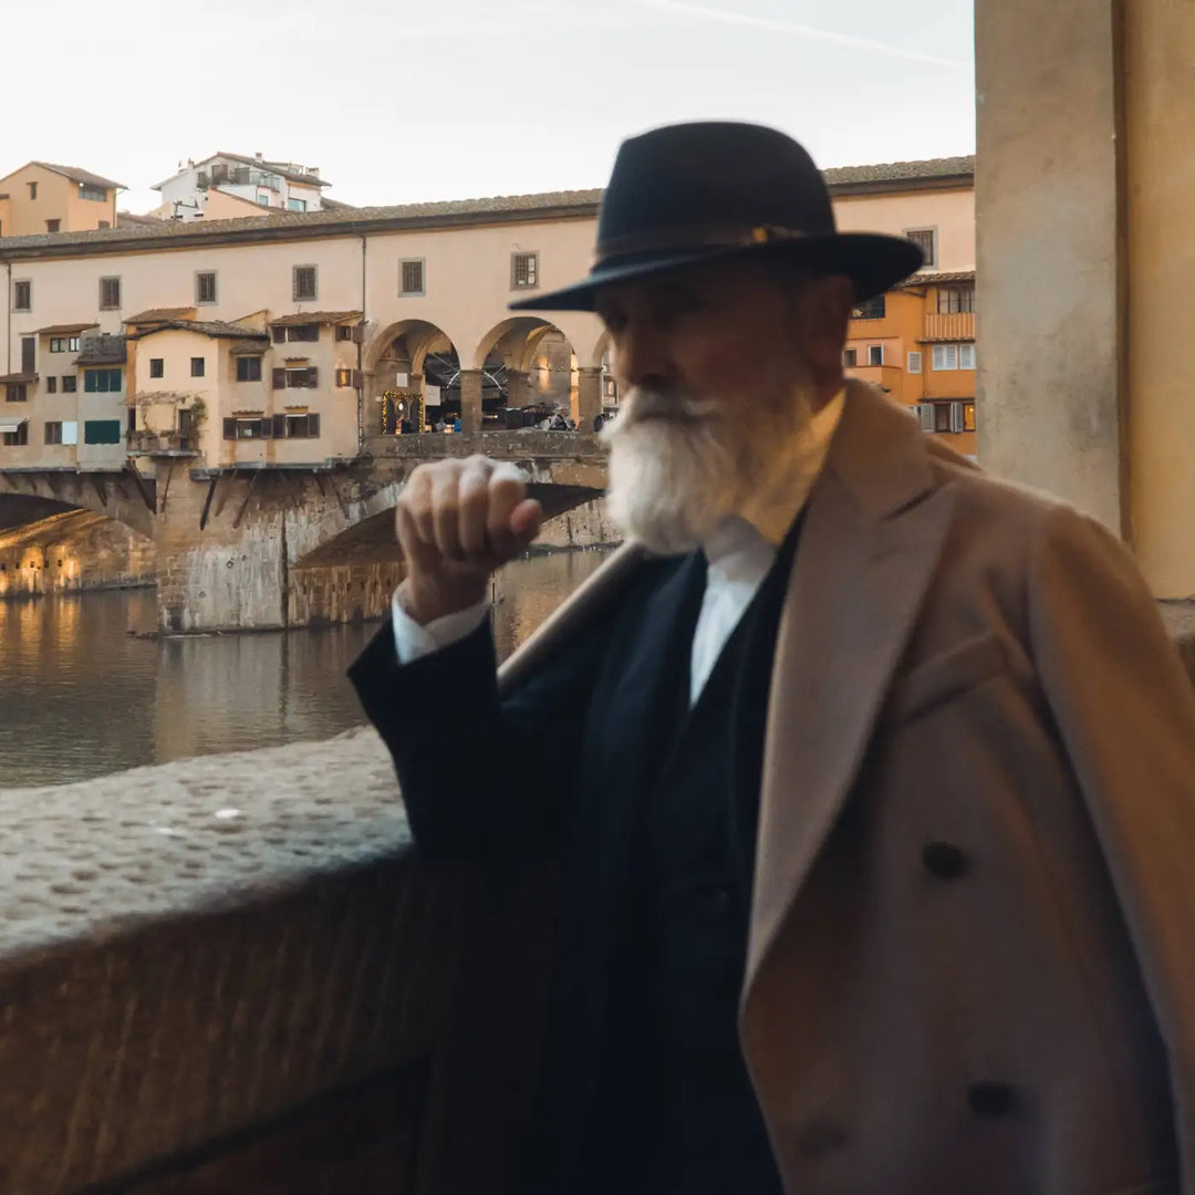
[(581, 637), (500, 700), (488, 619), (405, 666), (382, 625), (349, 679), (393, 756), (422, 853), (500, 868), (558, 853), (599, 645)]

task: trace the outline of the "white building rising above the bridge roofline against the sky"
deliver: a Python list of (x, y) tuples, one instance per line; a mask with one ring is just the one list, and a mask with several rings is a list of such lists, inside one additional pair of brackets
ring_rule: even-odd
[(321, 212), (323, 188), (318, 166), (293, 161), (266, 161), (262, 154), (246, 158), (216, 153), (188, 161), (177, 174), (154, 186), (161, 207), (152, 215), (163, 220), (229, 220), (259, 215), (262, 209)]

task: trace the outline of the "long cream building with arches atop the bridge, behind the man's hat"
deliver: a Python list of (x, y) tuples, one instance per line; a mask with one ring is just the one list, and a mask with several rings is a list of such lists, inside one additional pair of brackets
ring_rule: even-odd
[[(932, 234), (926, 270), (856, 313), (848, 372), (972, 452), (974, 311), (939, 311), (974, 307), (967, 170), (951, 159), (827, 177), (844, 228)], [(148, 470), (170, 453), (209, 468), (327, 465), (399, 430), (399, 410), (476, 430), (497, 406), (569, 403), (592, 427), (618, 398), (600, 321), (508, 304), (588, 270), (599, 201), (559, 192), (8, 239), (0, 470), (125, 456)]]

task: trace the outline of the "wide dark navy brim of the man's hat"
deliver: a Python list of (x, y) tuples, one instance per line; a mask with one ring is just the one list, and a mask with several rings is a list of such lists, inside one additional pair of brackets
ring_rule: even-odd
[(858, 302), (890, 290), (915, 274), (924, 264), (921, 250), (903, 237), (872, 232), (840, 232), (826, 237), (768, 241), (761, 245), (731, 245), (674, 250), (641, 255), (635, 261), (598, 265), (587, 278), (559, 290), (531, 295), (509, 305), (510, 311), (593, 311), (598, 292), (617, 282), (633, 282), (667, 274), (700, 262), (731, 257), (785, 257), (805, 264), (815, 274), (841, 274), (854, 284)]

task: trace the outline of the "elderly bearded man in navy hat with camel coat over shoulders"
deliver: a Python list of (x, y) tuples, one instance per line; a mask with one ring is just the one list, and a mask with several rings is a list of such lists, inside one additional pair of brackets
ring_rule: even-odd
[(553, 1191), (1195, 1195), (1195, 695), (1111, 535), (844, 385), (918, 264), (778, 133), (631, 140), (520, 305), (609, 330), (627, 545), (496, 679), (537, 503), (399, 501), (354, 679), (423, 852), (562, 864)]

